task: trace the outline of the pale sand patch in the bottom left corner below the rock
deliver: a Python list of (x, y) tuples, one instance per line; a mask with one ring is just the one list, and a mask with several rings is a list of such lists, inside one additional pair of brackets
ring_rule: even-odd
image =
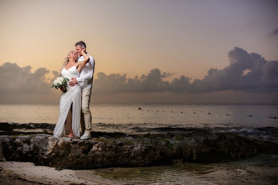
[[(80, 173), (79, 173), (80, 174)], [(0, 162), (1, 184), (92, 184), (108, 185), (110, 183), (85, 179), (76, 175), (75, 170), (57, 171), (55, 168), (35, 166), (31, 162)]]

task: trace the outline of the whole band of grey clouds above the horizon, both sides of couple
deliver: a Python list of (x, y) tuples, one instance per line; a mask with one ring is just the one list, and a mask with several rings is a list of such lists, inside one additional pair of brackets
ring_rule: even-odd
[[(278, 91), (278, 61), (267, 61), (257, 53), (247, 53), (242, 48), (235, 47), (229, 51), (229, 65), (224, 69), (211, 68), (203, 79), (195, 79), (190, 83), (190, 77), (180, 76), (172, 81), (165, 78), (169, 72), (152, 69), (147, 75), (128, 78), (126, 74), (110, 74), (98, 72), (93, 82), (94, 95), (117, 93), (207, 93), (214, 91), (244, 91), (252, 93)], [(34, 73), (31, 67), (20, 68), (17, 64), (5, 63), (0, 66), (2, 81), (1, 94), (50, 94), (52, 89), (45, 78), (49, 73), (46, 68), (39, 68)], [(52, 72), (55, 78), (58, 72)], [(54, 79), (50, 81), (53, 82)]]

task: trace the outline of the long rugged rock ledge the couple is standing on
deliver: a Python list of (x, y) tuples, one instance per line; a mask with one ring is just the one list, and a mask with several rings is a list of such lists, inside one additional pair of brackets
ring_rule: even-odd
[(173, 161), (222, 162), (258, 153), (278, 154), (277, 143), (231, 133), (126, 135), (93, 132), (92, 136), (90, 140), (80, 140), (54, 138), (49, 134), (2, 135), (0, 149), (6, 161), (65, 169), (130, 167)]

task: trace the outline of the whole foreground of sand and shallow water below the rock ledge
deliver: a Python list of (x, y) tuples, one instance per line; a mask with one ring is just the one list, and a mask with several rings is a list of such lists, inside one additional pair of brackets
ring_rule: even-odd
[[(272, 158), (271, 167), (252, 163)], [(174, 163), (157, 167), (61, 170), (35, 166), (31, 162), (0, 162), (1, 184), (25, 185), (123, 185), (123, 184), (266, 184), (278, 183), (278, 156), (259, 156), (224, 163)]]

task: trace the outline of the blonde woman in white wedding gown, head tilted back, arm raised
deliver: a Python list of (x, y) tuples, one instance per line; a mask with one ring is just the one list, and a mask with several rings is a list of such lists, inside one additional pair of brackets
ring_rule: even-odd
[[(75, 51), (69, 52), (61, 67), (61, 76), (68, 79), (79, 76), (81, 69), (89, 62), (89, 56), (86, 54), (85, 49), (81, 51), (81, 54), (84, 56), (84, 60), (77, 63), (77, 53)], [(70, 128), (71, 131), (67, 137), (79, 138), (81, 88), (78, 84), (74, 84), (72, 87), (69, 85), (69, 82), (67, 84), (67, 92), (61, 93), (59, 117), (53, 135), (54, 137), (62, 137), (66, 134), (66, 128)]]

